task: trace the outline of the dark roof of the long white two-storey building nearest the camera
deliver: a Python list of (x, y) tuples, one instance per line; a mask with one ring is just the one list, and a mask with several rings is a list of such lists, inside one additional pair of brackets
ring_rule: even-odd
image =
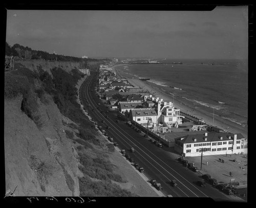
[[(229, 139), (229, 136), (231, 136), (231, 139)], [(221, 140), (222, 137), (222, 140)], [(181, 138), (184, 138), (181, 140)], [(195, 141), (196, 138), (196, 141)], [(207, 141), (205, 141), (205, 138), (207, 138)], [(183, 144), (186, 143), (200, 143), (200, 142), (221, 142), (221, 141), (229, 141), (234, 139), (234, 134), (232, 133), (208, 133), (207, 136), (204, 134), (197, 134), (197, 135), (186, 135), (184, 137), (179, 137), (176, 140), (180, 141)], [(242, 134), (237, 134), (237, 140), (244, 139), (244, 136)]]

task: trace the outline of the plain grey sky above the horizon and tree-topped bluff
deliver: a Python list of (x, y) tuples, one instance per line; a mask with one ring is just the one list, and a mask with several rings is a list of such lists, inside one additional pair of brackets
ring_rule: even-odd
[(247, 59), (248, 7), (212, 11), (8, 10), (6, 41), (60, 55)]

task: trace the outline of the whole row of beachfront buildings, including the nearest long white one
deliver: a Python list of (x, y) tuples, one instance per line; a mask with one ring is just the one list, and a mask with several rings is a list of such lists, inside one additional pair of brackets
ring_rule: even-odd
[[(138, 87), (117, 77), (108, 65), (100, 65), (98, 84), (100, 96), (110, 109), (126, 115), (153, 133), (168, 133), (171, 128), (178, 128), (182, 118), (185, 118), (173, 102), (136, 91)], [(202, 151), (204, 155), (247, 153), (247, 140), (242, 134), (200, 129), (197, 132), (185, 132), (182, 136), (176, 135), (172, 141), (161, 137), (161, 142), (174, 147), (184, 157), (199, 156)]]

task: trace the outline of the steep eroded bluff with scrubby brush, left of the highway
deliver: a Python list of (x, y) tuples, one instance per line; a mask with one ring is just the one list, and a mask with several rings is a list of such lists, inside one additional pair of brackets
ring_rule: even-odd
[(77, 103), (77, 66), (20, 62), (5, 72), (7, 192), (134, 196), (113, 183), (126, 182), (108, 160), (114, 146), (97, 137)]

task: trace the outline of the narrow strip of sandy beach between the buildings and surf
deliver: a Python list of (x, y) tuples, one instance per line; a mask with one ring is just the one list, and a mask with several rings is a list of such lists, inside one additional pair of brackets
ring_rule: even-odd
[(198, 111), (196, 108), (189, 106), (189, 103), (184, 100), (178, 100), (176, 97), (165, 93), (160, 89), (160, 86), (147, 82), (147, 81), (141, 81), (135, 76), (131, 76), (131, 74), (126, 73), (123, 70), (119, 70), (116, 67), (118, 66), (125, 66), (127, 64), (118, 64), (115, 66), (112, 66), (113, 70), (116, 72), (117, 76), (125, 77), (129, 83), (131, 83), (133, 86), (137, 86), (142, 88), (143, 90), (149, 91), (151, 94), (153, 94), (155, 97), (163, 98), (164, 101), (172, 101), (174, 103), (174, 106), (176, 108), (179, 108), (181, 112), (194, 115), (200, 119), (203, 119), (207, 124), (217, 126), (224, 131), (228, 131), (234, 134), (241, 133), (246, 139), (248, 139), (248, 132), (247, 132), (247, 126), (242, 126), (237, 123), (234, 123), (230, 120), (223, 119), (220, 116), (215, 115), (213, 119), (213, 112), (212, 117), (209, 115), (206, 115), (208, 112)]

